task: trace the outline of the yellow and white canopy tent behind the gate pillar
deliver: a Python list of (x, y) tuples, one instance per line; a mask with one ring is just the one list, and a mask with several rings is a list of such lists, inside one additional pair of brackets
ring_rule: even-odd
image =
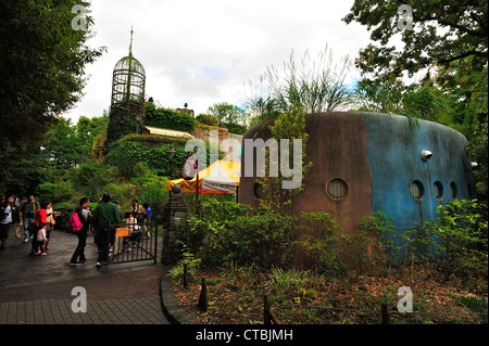
[[(201, 193), (236, 193), (241, 175), (241, 163), (216, 161), (199, 171), (199, 192)], [(196, 192), (197, 175), (190, 180), (174, 179), (168, 181), (168, 191), (179, 185), (181, 192)]]

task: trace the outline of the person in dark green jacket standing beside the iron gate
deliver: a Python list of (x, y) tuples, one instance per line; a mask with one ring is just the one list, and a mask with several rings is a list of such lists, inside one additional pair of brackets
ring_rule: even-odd
[(117, 206), (111, 202), (111, 194), (104, 192), (102, 202), (93, 210), (93, 223), (97, 232), (97, 246), (100, 248), (96, 267), (100, 269), (102, 264), (106, 264), (109, 248), (115, 241), (115, 229), (110, 228), (110, 223), (121, 223), (121, 216)]

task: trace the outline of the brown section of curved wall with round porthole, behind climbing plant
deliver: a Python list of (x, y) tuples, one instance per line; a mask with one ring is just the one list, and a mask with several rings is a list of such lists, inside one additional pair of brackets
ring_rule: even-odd
[[(371, 212), (371, 168), (366, 156), (367, 137), (361, 113), (328, 112), (305, 116), (309, 141), (305, 162), (313, 166), (305, 178), (305, 189), (294, 197), (293, 209), (300, 212), (325, 212), (331, 214), (344, 230), (354, 233), (364, 216)], [(271, 137), (267, 126), (259, 125), (243, 137)], [(244, 156), (244, 145), (242, 155)], [(254, 197), (255, 178), (244, 176), (243, 161), (239, 203), (259, 206)], [(255, 165), (255, 163), (253, 163)], [(333, 179), (341, 179), (348, 185), (348, 192), (341, 200), (328, 196), (326, 189)]]

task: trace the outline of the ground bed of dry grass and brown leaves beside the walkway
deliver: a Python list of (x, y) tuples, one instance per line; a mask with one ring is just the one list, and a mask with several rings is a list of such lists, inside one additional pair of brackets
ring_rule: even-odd
[[(456, 283), (438, 280), (425, 268), (389, 270), (381, 275), (350, 272), (341, 279), (321, 273), (254, 266), (193, 268), (189, 287), (174, 280), (179, 304), (197, 319), (210, 324), (263, 323), (263, 295), (272, 297), (272, 309), (284, 324), (378, 324), (380, 303), (387, 302), (396, 324), (487, 324), (487, 285), (469, 292)], [(200, 278), (208, 281), (209, 309), (200, 312)], [(487, 281), (487, 280), (486, 280)], [(398, 289), (413, 291), (413, 312), (400, 313)], [(456, 293), (454, 293), (456, 292)]]

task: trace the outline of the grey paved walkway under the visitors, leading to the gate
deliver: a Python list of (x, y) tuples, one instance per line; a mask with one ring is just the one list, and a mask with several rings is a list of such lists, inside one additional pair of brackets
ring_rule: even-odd
[[(33, 256), (30, 243), (11, 233), (0, 251), (0, 324), (170, 323), (161, 307), (163, 266), (142, 261), (97, 270), (97, 246), (89, 236), (87, 261), (70, 267), (77, 242), (74, 234), (52, 231), (48, 256)], [(72, 295), (75, 286), (85, 289), (87, 312), (72, 309), (82, 297)]]

